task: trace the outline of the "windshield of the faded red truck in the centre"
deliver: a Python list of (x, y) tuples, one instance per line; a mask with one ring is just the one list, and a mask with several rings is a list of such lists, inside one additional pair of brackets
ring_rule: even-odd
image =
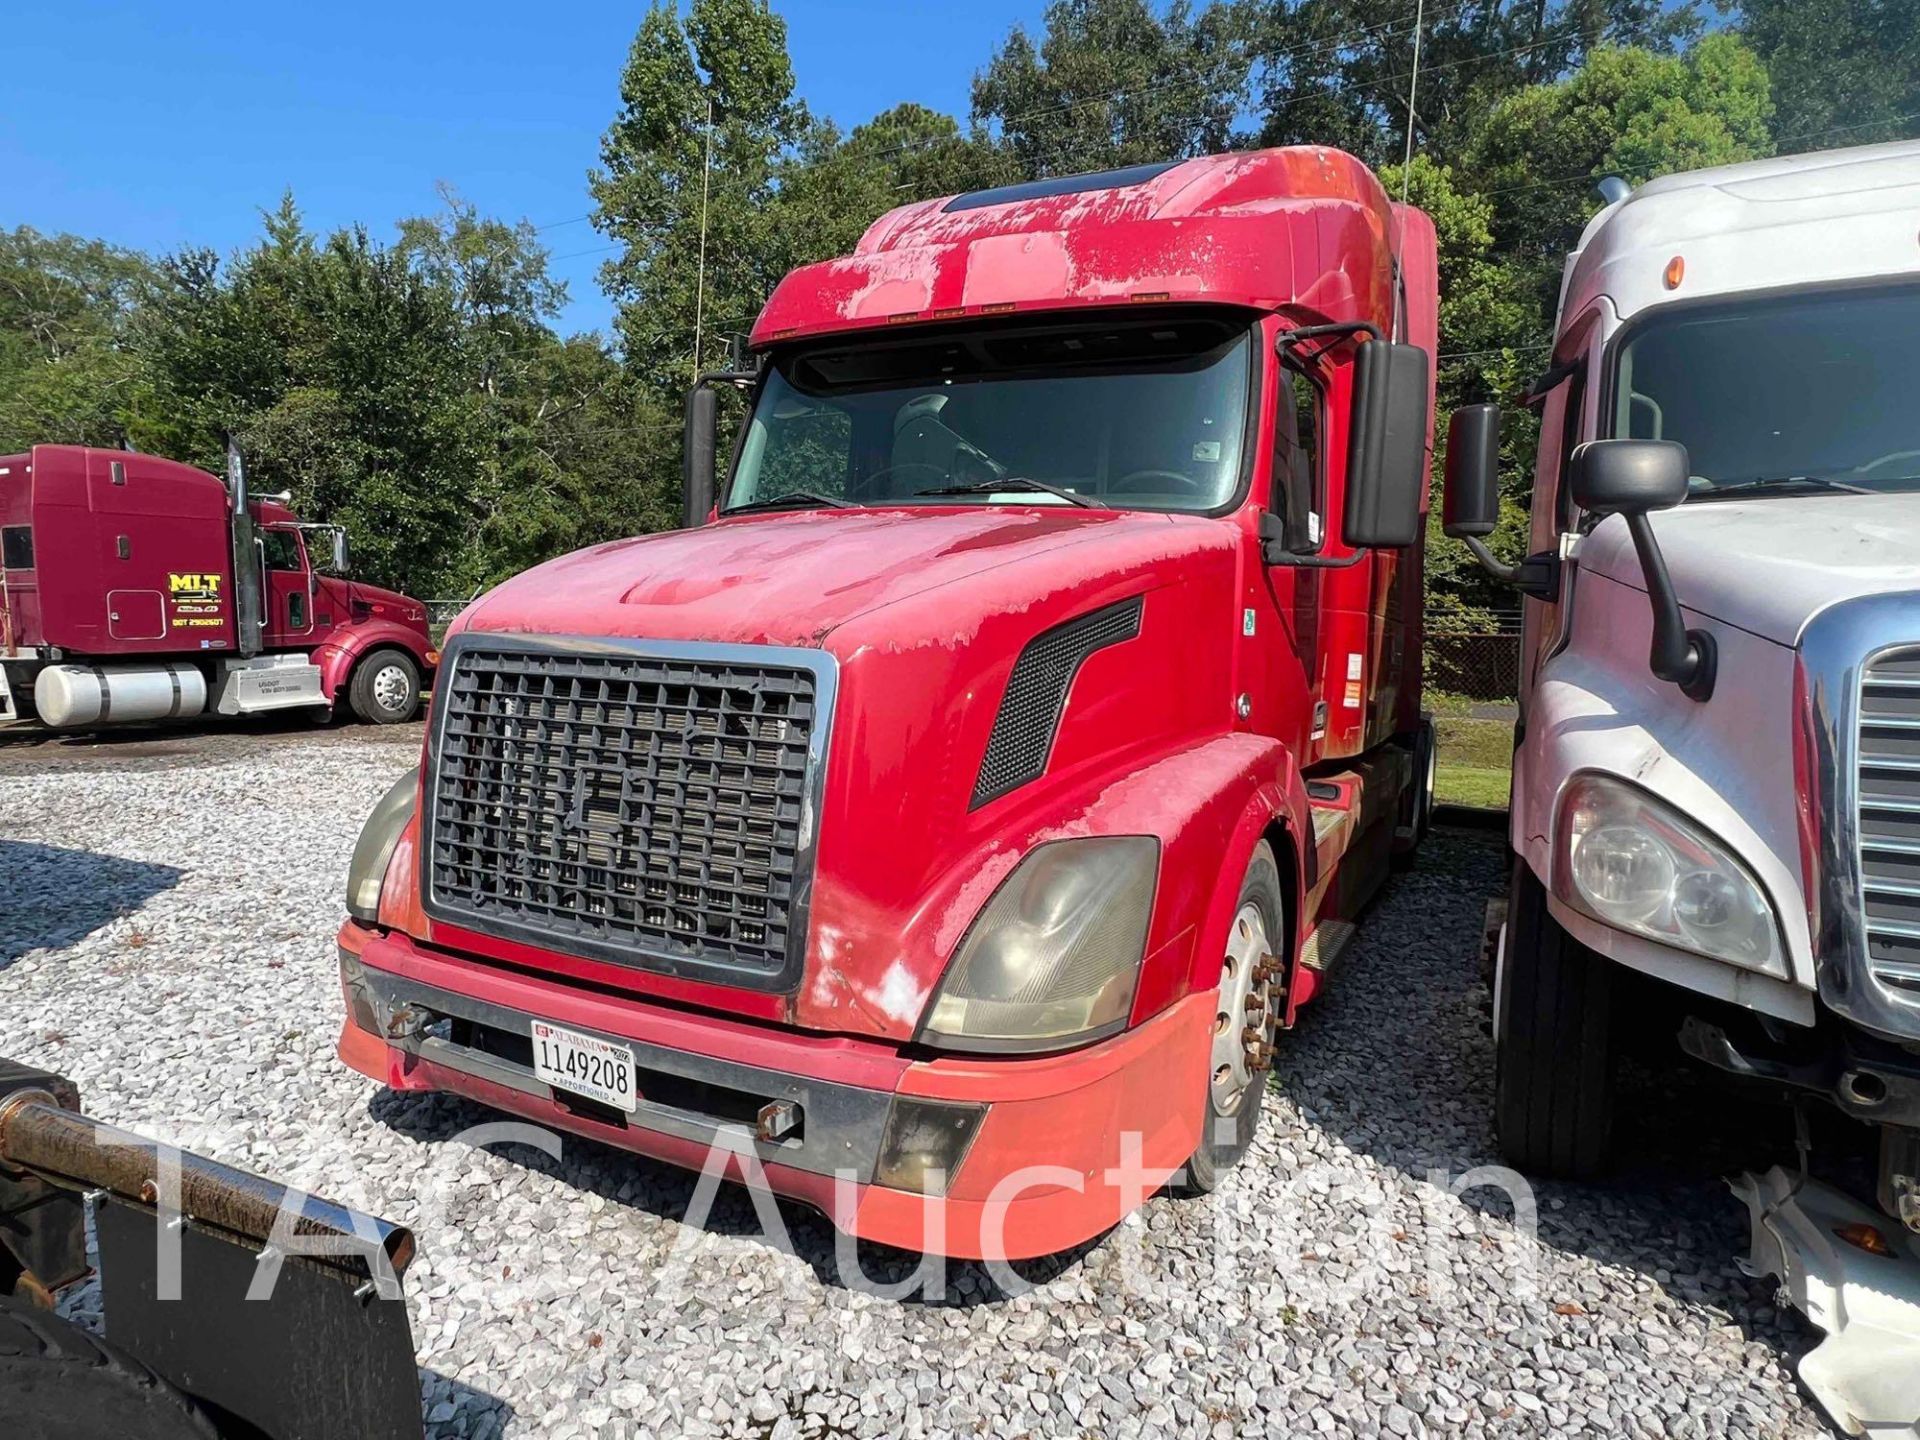
[(1240, 484), (1248, 336), (1240, 321), (1129, 317), (789, 355), (760, 386), (724, 509), (1210, 511)]

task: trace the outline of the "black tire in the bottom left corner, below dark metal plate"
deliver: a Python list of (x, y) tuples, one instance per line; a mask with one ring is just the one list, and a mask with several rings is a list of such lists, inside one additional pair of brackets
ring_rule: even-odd
[(219, 1440), (205, 1413), (125, 1350), (0, 1298), (0, 1409), (19, 1440)]

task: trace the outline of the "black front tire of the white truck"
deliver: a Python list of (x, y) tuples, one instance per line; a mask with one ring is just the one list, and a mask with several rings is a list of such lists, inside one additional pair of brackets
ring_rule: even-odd
[(1528, 1175), (1599, 1175), (1613, 1127), (1613, 966), (1548, 914), (1524, 860), (1513, 866), (1494, 1037), (1500, 1154)]

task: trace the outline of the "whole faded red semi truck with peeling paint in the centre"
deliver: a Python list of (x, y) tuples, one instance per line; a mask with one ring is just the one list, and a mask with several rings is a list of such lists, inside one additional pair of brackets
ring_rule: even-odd
[(1434, 334), (1432, 225), (1323, 148), (922, 202), (791, 273), (689, 396), (689, 528), (455, 622), (340, 1056), (730, 1146), (912, 1250), (1210, 1188), (1427, 824)]

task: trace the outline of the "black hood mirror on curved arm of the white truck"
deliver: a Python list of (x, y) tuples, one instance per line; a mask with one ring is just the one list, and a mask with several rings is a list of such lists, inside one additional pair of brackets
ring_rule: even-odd
[(1649, 511), (1672, 509), (1686, 499), (1690, 472), (1686, 445), (1674, 440), (1588, 440), (1569, 457), (1567, 484), (1574, 505), (1592, 515), (1619, 515), (1634, 540), (1653, 605), (1647, 668), (1680, 685), (1688, 699), (1705, 701), (1713, 695), (1713, 636), (1686, 628), (1667, 576), (1667, 557), (1647, 520)]

